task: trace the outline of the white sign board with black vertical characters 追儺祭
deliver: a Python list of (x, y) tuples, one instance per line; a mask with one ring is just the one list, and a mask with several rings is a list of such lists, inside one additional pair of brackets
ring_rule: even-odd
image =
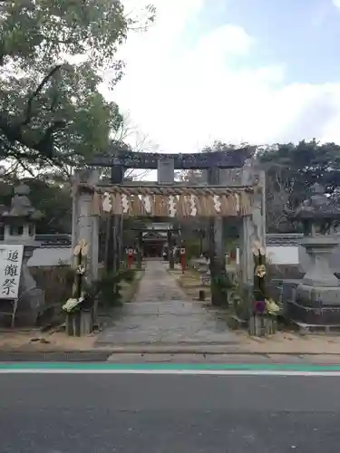
[(0, 300), (18, 297), (23, 255), (23, 245), (0, 246)]

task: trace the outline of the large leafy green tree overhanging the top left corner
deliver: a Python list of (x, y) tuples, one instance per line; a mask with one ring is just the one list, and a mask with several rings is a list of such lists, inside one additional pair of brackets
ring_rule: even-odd
[(131, 28), (119, 0), (0, 0), (0, 160), (76, 164), (108, 145), (121, 114), (98, 91)]

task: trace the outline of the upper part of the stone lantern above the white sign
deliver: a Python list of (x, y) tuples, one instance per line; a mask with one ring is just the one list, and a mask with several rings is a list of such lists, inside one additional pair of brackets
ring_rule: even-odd
[(43, 216), (32, 206), (29, 194), (30, 188), (25, 184), (17, 186), (10, 209), (3, 213), (5, 244), (35, 243), (35, 224)]

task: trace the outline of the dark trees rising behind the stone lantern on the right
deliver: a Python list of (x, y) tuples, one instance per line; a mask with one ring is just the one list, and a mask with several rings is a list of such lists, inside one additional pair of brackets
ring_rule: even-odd
[(316, 140), (298, 144), (276, 144), (258, 152), (266, 169), (267, 228), (270, 232), (293, 228), (287, 211), (295, 209), (308, 197), (316, 182), (335, 199), (340, 194), (340, 147), (335, 143)]

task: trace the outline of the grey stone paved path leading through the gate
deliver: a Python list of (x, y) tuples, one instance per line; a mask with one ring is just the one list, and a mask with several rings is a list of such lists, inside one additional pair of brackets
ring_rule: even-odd
[(134, 301), (99, 335), (97, 344), (198, 344), (237, 342), (225, 321), (189, 301), (167, 264), (147, 261)]

